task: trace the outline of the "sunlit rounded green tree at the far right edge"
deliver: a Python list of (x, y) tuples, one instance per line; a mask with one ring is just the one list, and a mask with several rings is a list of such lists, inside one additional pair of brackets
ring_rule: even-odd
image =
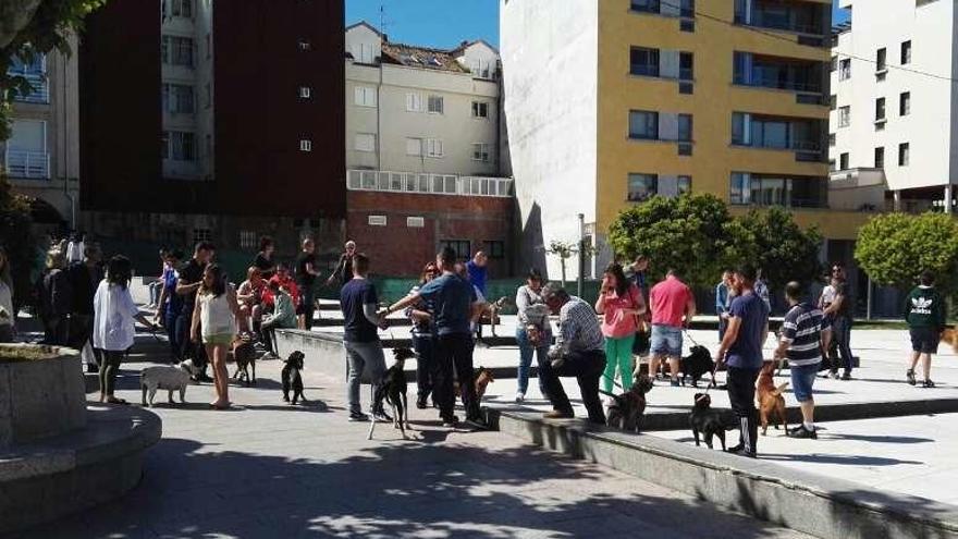
[(855, 258), (879, 283), (910, 287), (921, 271), (935, 273), (936, 286), (958, 289), (958, 221), (943, 213), (887, 213), (858, 233)]

